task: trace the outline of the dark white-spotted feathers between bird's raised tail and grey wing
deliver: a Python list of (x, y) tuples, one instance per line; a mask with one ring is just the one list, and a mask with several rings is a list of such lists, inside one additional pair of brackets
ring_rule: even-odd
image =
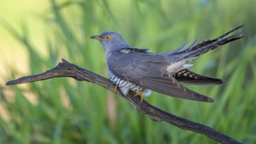
[(189, 71), (189, 69), (183, 69), (175, 73), (173, 77), (181, 84), (194, 84), (194, 85), (227, 84), (227, 81), (225, 80), (216, 79), (213, 77), (206, 77), (204, 75), (199, 75), (197, 73)]

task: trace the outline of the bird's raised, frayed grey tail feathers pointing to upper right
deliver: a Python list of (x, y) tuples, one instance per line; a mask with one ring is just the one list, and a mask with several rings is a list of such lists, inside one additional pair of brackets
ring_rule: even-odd
[[(202, 41), (201, 43), (197, 43), (197, 40), (194, 41), (194, 43), (189, 46), (188, 48), (185, 48), (187, 44), (181, 46), (177, 50), (174, 50), (170, 53), (163, 53), (164, 56), (169, 57), (171, 62), (179, 62), (181, 60), (186, 60), (187, 62), (190, 62), (191, 60), (194, 60), (195, 58), (198, 58), (202, 54), (213, 50), (219, 46), (225, 45), (227, 43), (230, 43), (231, 41), (236, 41), (238, 39), (241, 39), (242, 36), (239, 36), (241, 33), (235, 33), (233, 35), (229, 35), (230, 33), (237, 31), (238, 29), (242, 28), (242, 26), (238, 26), (232, 30), (230, 30), (227, 33), (224, 33), (223, 35), (217, 37), (216, 39), (213, 40), (205, 40)], [(185, 62), (185, 63), (187, 63)]]

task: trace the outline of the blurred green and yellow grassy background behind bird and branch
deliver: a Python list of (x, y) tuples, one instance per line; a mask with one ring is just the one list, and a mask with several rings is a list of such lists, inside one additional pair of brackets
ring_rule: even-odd
[(216, 143), (166, 122), (153, 122), (113, 92), (56, 78), (14, 86), (61, 58), (107, 77), (105, 52), (90, 39), (121, 33), (132, 46), (174, 50), (245, 24), (244, 39), (191, 62), (192, 71), (229, 81), (187, 86), (215, 99), (202, 103), (153, 92), (149, 103), (242, 143), (256, 143), (256, 1), (1, 1), (0, 143)]

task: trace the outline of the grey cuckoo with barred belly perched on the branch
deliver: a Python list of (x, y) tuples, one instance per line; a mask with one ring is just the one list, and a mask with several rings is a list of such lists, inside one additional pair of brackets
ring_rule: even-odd
[(214, 102), (214, 99), (194, 92), (183, 84), (219, 85), (226, 84), (227, 81), (194, 73), (189, 70), (193, 65), (188, 62), (219, 46), (243, 38), (240, 36), (243, 32), (230, 35), (243, 26), (215, 39), (205, 39), (200, 43), (196, 39), (190, 46), (187, 46), (188, 42), (175, 50), (162, 53), (130, 46), (122, 35), (112, 31), (90, 38), (98, 39), (105, 49), (109, 80), (115, 84), (115, 92), (119, 88), (122, 95), (126, 96), (132, 91), (134, 96), (140, 98), (140, 103), (143, 96), (151, 94), (151, 90), (175, 98)]

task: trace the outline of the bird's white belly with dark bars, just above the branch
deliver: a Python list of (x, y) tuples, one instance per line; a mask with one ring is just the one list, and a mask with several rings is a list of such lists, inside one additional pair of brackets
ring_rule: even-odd
[(141, 92), (143, 96), (149, 96), (151, 94), (151, 90), (143, 88), (143, 86), (139, 86), (132, 82), (121, 80), (118, 77), (116, 77), (111, 71), (109, 71), (109, 80), (113, 84), (117, 84), (119, 86), (119, 89), (121, 90), (124, 96), (128, 94), (129, 90), (135, 92), (136, 94)]

